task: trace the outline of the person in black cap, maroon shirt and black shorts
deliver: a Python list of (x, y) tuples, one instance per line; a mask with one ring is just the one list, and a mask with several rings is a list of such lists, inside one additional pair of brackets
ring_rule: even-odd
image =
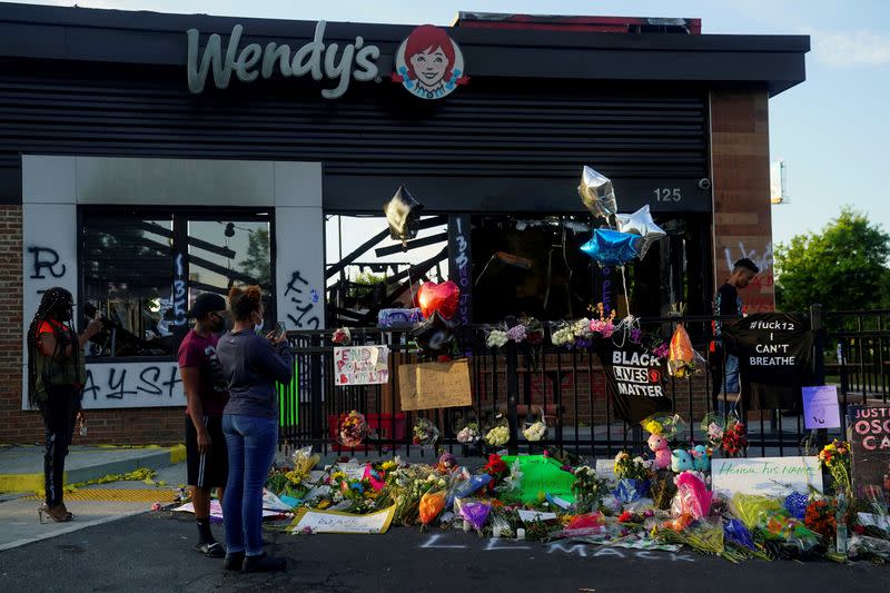
[(195, 326), (179, 345), (179, 375), (186, 392), (186, 466), (198, 543), (195, 550), (208, 557), (225, 555), (210, 531), (210, 493), (222, 501), (228, 480), (228, 455), (222, 434), (222, 411), (228, 386), (216, 354), (219, 334), (226, 329), (226, 299), (201, 293), (187, 314)]

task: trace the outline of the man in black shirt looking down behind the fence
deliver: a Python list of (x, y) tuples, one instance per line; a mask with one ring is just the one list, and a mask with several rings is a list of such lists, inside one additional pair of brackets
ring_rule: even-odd
[[(729, 279), (714, 295), (714, 315), (742, 317), (744, 304), (739, 290), (748, 287), (759, 271), (756, 264), (746, 257), (733, 264)], [(740, 391), (739, 357), (726, 354), (722, 343), (722, 325), (731, 323), (733, 322), (714, 322), (714, 343), (711, 348), (711, 369), (714, 379), (712, 395), (721, 414), (725, 412), (726, 404), (731, 405), (739, 398)]]

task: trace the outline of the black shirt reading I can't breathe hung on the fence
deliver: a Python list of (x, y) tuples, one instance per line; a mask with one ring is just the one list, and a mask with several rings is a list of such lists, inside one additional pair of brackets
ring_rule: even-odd
[(749, 383), (801, 385), (808, 380), (813, 335), (802, 315), (756, 313), (723, 324), (726, 350)]

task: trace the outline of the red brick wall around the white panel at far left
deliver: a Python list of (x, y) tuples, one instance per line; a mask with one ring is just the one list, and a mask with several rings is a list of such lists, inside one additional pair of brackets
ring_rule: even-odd
[[(0, 443), (40, 443), (39, 412), (21, 409), (22, 385), (22, 230), (21, 206), (0, 205)], [(182, 442), (181, 407), (93, 409), (87, 436), (75, 444), (147, 445)]]

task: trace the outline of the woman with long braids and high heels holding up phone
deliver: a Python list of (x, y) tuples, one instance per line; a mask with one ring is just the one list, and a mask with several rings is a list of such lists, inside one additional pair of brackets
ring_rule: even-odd
[(39, 508), (43, 516), (56, 522), (75, 516), (62, 502), (65, 457), (77, 418), (83, 421), (80, 408), (87, 366), (83, 345), (101, 329), (99, 319), (91, 320), (78, 336), (71, 327), (73, 299), (65, 288), (43, 293), (31, 326), (28, 328), (28, 401), (40, 408), (47, 434), (43, 456), (46, 502)]

